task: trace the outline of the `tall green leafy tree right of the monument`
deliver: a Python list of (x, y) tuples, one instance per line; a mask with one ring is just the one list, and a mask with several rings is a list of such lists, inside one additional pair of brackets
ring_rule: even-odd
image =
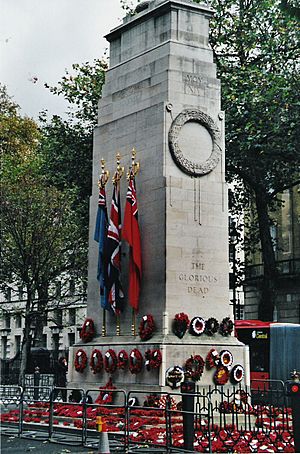
[(227, 177), (242, 182), (243, 206), (248, 199), (255, 207), (264, 266), (259, 318), (273, 320), (272, 212), (280, 193), (300, 181), (299, 23), (280, 2), (215, 1), (214, 7), (211, 43), (227, 117)]

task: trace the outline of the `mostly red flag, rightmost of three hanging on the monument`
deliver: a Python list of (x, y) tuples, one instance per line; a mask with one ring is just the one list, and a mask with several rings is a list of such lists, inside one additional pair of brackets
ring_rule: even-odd
[(138, 223), (138, 207), (136, 199), (135, 178), (131, 173), (126, 196), (124, 226), (122, 237), (130, 246), (129, 256), (129, 304), (137, 312), (142, 276), (141, 236)]

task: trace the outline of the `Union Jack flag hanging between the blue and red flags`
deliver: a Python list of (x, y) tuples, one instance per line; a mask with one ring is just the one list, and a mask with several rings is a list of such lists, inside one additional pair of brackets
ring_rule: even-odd
[(107, 231), (107, 290), (108, 301), (118, 315), (123, 310), (124, 294), (120, 282), (121, 272), (121, 204), (120, 185), (114, 184), (110, 221)]

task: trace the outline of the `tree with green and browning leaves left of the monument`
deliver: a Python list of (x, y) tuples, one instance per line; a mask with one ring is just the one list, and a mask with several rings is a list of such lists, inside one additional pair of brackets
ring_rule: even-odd
[(43, 175), (37, 125), (22, 118), (17, 108), (0, 111), (1, 284), (17, 283), (26, 289), (22, 383), (32, 331), (39, 341), (46, 322), (49, 288), (64, 274), (78, 276), (82, 262), (86, 266), (86, 248), (72, 209), (75, 191), (61, 191)]

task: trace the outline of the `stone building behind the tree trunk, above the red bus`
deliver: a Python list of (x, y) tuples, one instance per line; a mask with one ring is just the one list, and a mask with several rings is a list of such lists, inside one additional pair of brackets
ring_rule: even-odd
[[(281, 194), (271, 233), (277, 263), (273, 321), (300, 323), (300, 186)], [(246, 257), (245, 318), (258, 318), (263, 264), (259, 251)]]

